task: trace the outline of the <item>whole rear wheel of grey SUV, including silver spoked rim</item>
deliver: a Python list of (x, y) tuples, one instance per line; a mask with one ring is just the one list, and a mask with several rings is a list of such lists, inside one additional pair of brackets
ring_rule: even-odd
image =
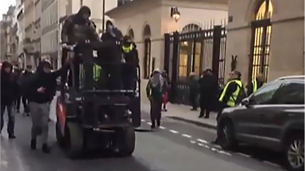
[(304, 170), (304, 136), (289, 138), (285, 146), (284, 161), (288, 170)]

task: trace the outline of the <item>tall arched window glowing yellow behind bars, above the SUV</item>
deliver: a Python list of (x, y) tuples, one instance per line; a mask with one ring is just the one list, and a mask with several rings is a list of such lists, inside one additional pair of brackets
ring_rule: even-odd
[[(270, 42), (273, 7), (271, 0), (264, 0), (257, 8), (255, 19), (252, 21), (252, 62), (249, 65), (249, 81), (262, 73), (267, 81), (270, 57)], [(250, 60), (251, 61), (251, 60)]]

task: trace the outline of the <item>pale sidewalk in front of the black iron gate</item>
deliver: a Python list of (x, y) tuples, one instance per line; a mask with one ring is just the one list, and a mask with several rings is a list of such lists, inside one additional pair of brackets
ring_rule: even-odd
[[(184, 121), (188, 123), (195, 124), (197, 126), (207, 127), (216, 129), (216, 112), (210, 113), (209, 119), (198, 118), (200, 113), (200, 108), (197, 111), (191, 111), (191, 107), (183, 104), (171, 104), (168, 103), (167, 105), (167, 112), (162, 112), (162, 117), (168, 117), (171, 119)], [(149, 113), (150, 112), (150, 105), (146, 103), (142, 103), (142, 112)]]

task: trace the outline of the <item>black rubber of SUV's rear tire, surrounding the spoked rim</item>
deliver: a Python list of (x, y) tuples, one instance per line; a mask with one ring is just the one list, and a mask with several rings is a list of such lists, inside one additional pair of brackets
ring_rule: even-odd
[(284, 166), (287, 168), (287, 170), (290, 170), (290, 171), (304, 170), (304, 162), (303, 162), (302, 166), (300, 166), (298, 168), (294, 168), (288, 160), (288, 150), (290, 148), (290, 145), (295, 140), (301, 140), (304, 144), (304, 135), (293, 135), (293, 136), (288, 137), (286, 140), (285, 148), (284, 148), (285, 150), (284, 150), (284, 155), (283, 155), (283, 163), (284, 163)]

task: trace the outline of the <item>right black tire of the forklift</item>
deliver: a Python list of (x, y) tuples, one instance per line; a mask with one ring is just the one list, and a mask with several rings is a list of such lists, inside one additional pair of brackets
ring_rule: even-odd
[(136, 136), (133, 126), (127, 126), (118, 130), (121, 141), (118, 144), (118, 155), (120, 157), (130, 156), (135, 148)]

